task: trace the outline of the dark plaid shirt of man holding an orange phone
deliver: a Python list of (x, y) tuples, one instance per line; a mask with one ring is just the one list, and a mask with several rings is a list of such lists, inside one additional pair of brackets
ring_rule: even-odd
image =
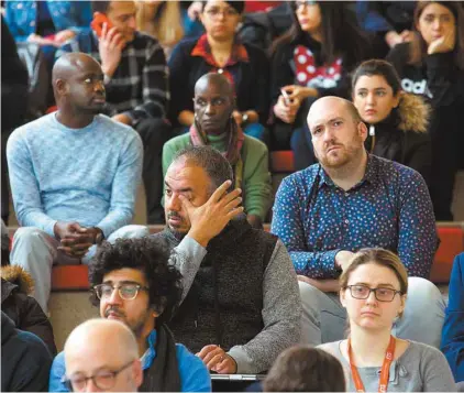
[[(87, 53), (101, 63), (98, 37), (87, 30), (57, 51)], [(169, 101), (168, 68), (162, 46), (146, 34), (135, 37), (122, 51), (121, 61), (111, 78), (106, 77), (109, 116), (124, 113), (132, 125), (147, 118), (165, 118)]]

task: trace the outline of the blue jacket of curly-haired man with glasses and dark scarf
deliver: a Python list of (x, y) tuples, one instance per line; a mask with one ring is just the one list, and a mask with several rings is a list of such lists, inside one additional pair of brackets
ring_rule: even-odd
[[(150, 368), (156, 357), (156, 330), (153, 330), (150, 334), (147, 340), (148, 349), (141, 358), (143, 370)], [(176, 343), (176, 352), (180, 374), (180, 391), (211, 392), (211, 378), (201, 359), (191, 353), (181, 343)], [(49, 392), (68, 392), (66, 385), (62, 382), (62, 378), (65, 374), (65, 353), (59, 352), (53, 361), (52, 370), (49, 372)]]

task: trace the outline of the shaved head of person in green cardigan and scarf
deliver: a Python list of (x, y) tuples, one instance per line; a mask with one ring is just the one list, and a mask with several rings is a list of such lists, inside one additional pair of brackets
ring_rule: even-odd
[(228, 131), (235, 108), (234, 89), (221, 74), (206, 74), (195, 84), (196, 124), (207, 134), (222, 134)]

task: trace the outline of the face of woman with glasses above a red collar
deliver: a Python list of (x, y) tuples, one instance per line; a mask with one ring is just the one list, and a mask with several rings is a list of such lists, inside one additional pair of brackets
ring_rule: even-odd
[(242, 15), (225, 1), (207, 1), (200, 14), (207, 34), (217, 41), (229, 41), (235, 35)]

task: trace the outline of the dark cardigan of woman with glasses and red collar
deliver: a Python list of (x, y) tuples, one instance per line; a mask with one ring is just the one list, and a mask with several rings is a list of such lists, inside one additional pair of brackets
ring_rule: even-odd
[[(213, 72), (212, 65), (201, 56), (191, 56), (198, 39), (180, 42), (173, 51), (169, 66), (170, 116), (173, 124), (178, 124), (177, 117), (183, 110), (194, 111), (195, 84)], [(248, 62), (237, 62), (227, 69), (234, 77), (236, 108), (239, 111), (255, 110), (259, 122), (265, 123), (268, 114), (268, 76), (269, 64), (265, 53), (253, 45), (243, 43)]]

